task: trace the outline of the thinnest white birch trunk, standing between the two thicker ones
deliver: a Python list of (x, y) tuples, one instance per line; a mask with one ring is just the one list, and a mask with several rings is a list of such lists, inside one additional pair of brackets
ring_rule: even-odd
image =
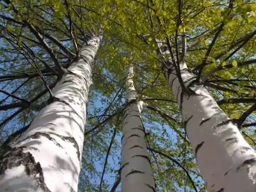
[(133, 69), (130, 65), (126, 79), (126, 107), (123, 109), (123, 137), (121, 182), (122, 191), (155, 191), (155, 181), (147, 154), (145, 130), (141, 121), (141, 111), (145, 104), (137, 102), (134, 89)]

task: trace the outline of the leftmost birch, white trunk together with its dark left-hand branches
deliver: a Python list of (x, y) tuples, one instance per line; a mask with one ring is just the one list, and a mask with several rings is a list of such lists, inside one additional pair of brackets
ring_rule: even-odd
[[(19, 3), (5, 3), (10, 8), (9, 13), (14, 12), (20, 18), (17, 20), (5, 15), (2, 15), (2, 18), (13, 22), (14, 25), (18, 25), (17, 28), (20, 28), (20, 25), (21, 27), (26, 27), (30, 33), (27, 34), (34, 35), (35, 39), (19, 34), (18, 43), (16, 44), (10, 38), (17, 37), (15, 28), (9, 27), (9, 29), (6, 29), (3, 26), (2, 30), (6, 37), (2, 36), (2, 38), (10, 43), (14, 50), (17, 49), (23, 54), (26, 61), (36, 68), (38, 74), (33, 76), (39, 75), (42, 78), (47, 88), (46, 91), (50, 93), (50, 98), (38, 107), (39, 109), (44, 108), (30, 126), (26, 126), (25, 129), (13, 134), (18, 136), (18, 139), (9, 137), (9, 140), (3, 143), (0, 155), (1, 189), (10, 191), (77, 191), (84, 142), (84, 126), (86, 124), (87, 97), (92, 83), (93, 60), (97, 53), (101, 36), (92, 36), (86, 39), (81, 48), (78, 47), (76, 39), (73, 39), (74, 49), (77, 51), (74, 54), (53, 36), (41, 31), (37, 25), (35, 26), (34, 21), (25, 20), (26, 13), (22, 14), (23, 10), (19, 9)], [(65, 12), (62, 4), (57, 2), (56, 6), (58, 9), (55, 10), (55, 16), (57, 16), (57, 13), (62, 14), (62, 12)], [(67, 1), (66, 7), (69, 10)], [(75, 38), (70, 11), (67, 11), (67, 14), (70, 35)], [(45, 36), (57, 45), (61, 51), (68, 54), (71, 61), (67, 69), (61, 65), (58, 59), (59, 55), (55, 54), (53, 47), (49, 42), (45, 41)], [(22, 42), (22, 38), (28, 40), (28, 42), (41, 45), (44, 51), (50, 55), (52, 62), (55, 64), (54, 68), (50, 66), (50, 63), (40, 59), (40, 56), (36, 55), (33, 48), (26, 46), (25, 42)], [(19, 49), (18, 47), (21, 48)], [(27, 52), (22, 53), (24, 50)], [(42, 71), (38, 67), (38, 63), (33, 58), (41, 61), (46, 66), (45, 72), (52, 71), (58, 76), (58, 83), (55, 86), (54, 84), (50, 86), (47, 84)], [(23, 78), (27, 77), (25, 73)], [(52, 87), (53, 89), (51, 89)], [(1, 90), (1, 92), (20, 100), (20, 102), (5, 105), (2, 110), (15, 107), (21, 107), (22, 110), (31, 105), (29, 101), (20, 99), (13, 93), (4, 90)], [(42, 96), (44, 93), (45, 91), (39, 95)], [(2, 122), (2, 126), (5, 122)]]

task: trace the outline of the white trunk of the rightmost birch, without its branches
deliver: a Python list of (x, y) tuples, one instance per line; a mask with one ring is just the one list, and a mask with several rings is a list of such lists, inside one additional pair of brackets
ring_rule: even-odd
[(223, 113), (203, 85), (194, 83), (185, 63), (180, 64), (185, 86), (181, 89), (174, 67), (165, 76), (180, 105), (188, 138), (206, 187), (213, 192), (251, 192), (256, 189), (256, 153), (237, 126)]

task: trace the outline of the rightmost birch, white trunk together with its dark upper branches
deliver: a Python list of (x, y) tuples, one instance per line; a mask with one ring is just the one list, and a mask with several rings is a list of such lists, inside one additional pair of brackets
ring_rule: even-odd
[[(179, 2), (178, 10), (181, 9), (181, 6), (182, 4)], [(232, 1), (229, 2), (228, 9), (233, 9)], [(230, 15), (232, 14), (230, 12), (227, 11), (226, 13), (228, 20), (234, 17), (234, 15)], [(181, 11), (178, 13), (177, 26), (179, 27), (179, 25), (182, 25)], [(206, 188), (209, 191), (253, 191), (255, 189), (253, 176), (255, 174), (255, 150), (244, 140), (239, 131), (245, 117), (242, 115), (239, 119), (229, 118), (203, 87), (205, 80), (215, 73), (216, 69), (210, 70), (201, 77), (211, 49), (224, 25), (225, 22), (222, 21), (201, 65), (195, 68), (198, 72), (197, 75), (191, 74), (186, 66), (185, 30), (183, 29), (183, 35), (181, 35), (181, 54), (176, 55), (175, 58), (170, 46), (170, 38), (166, 38), (171, 56), (164, 66), (165, 77), (179, 103), (186, 133), (194, 150), (202, 177), (206, 182)], [(176, 45), (178, 45), (178, 37), (175, 36), (174, 38)], [(175, 49), (177, 50), (179, 47), (176, 46)], [(228, 55), (228, 58), (232, 54), (234, 51)], [(239, 64), (243, 65), (245, 62)], [(250, 63), (250, 61), (247, 62)], [(222, 65), (225, 67), (226, 62)], [(237, 61), (233, 61), (232, 66), (236, 67)], [(254, 106), (255, 104), (248, 110), (250, 112), (247, 115), (255, 110)], [(230, 185), (231, 182), (234, 183)]]

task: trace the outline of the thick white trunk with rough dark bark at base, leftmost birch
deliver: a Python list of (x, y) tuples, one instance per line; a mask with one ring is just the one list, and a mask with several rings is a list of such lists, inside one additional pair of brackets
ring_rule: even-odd
[(93, 37), (52, 90), (28, 130), (0, 150), (1, 191), (77, 191), (93, 59)]

